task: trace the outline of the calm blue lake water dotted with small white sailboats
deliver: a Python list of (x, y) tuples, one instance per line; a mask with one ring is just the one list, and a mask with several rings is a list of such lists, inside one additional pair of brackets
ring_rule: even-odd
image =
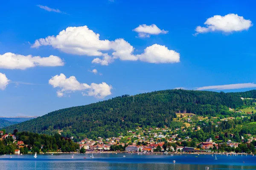
[(185, 154), (99, 153), (93, 154), (94, 159), (91, 154), (38, 154), (36, 159), (33, 156), (1, 155), (0, 170), (256, 170), (256, 156), (252, 155), (217, 155), (217, 160), (212, 155)]

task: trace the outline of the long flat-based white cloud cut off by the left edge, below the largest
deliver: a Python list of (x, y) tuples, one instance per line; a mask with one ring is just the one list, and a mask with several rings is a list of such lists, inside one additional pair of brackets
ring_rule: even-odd
[(32, 55), (23, 56), (20, 54), (5, 53), (0, 55), (0, 68), (5, 69), (21, 69), (32, 68), (35, 66), (63, 66), (64, 61), (57, 57), (50, 55), (49, 57), (40, 57)]

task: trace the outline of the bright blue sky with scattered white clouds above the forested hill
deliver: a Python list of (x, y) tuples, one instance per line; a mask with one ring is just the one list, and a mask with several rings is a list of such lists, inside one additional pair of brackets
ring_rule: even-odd
[[(1, 2), (0, 116), (41, 116), (122, 94), (180, 87), (253, 89), (253, 6), (254, 1), (234, 0)], [(88, 38), (96, 34), (98, 40)], [(53, 37), (46, 42), (48, 36)], [(108, 65), (101, 65), (106, 54)], [(215, 85), (221, 86), (208, 87)]]

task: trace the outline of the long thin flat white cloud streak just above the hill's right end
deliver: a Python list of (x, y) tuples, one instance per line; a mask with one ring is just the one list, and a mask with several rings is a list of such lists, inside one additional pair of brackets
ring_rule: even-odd
[(230, 85), (211, 85), (211, 86), (196, 88), (195, 90), (230, 90), (230, 89), (240, 89), (240, 88), (256, 88), (256, 84), (239, 83), (239, 84), (230, 84)]

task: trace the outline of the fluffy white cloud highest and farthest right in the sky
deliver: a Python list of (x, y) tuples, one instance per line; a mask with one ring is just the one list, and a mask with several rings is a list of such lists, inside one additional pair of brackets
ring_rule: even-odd
[(225, 16), (215, 15), (208, 18), (204, 24), (206, 25), (205, 27), (196, 27), (195, 35), (213, 31), (231, 33), (234, 31), (248, 30), (253, 26), (250, 20), (245, 20), (244, 17), (240, 17), (237, 14), (227, 14)]

